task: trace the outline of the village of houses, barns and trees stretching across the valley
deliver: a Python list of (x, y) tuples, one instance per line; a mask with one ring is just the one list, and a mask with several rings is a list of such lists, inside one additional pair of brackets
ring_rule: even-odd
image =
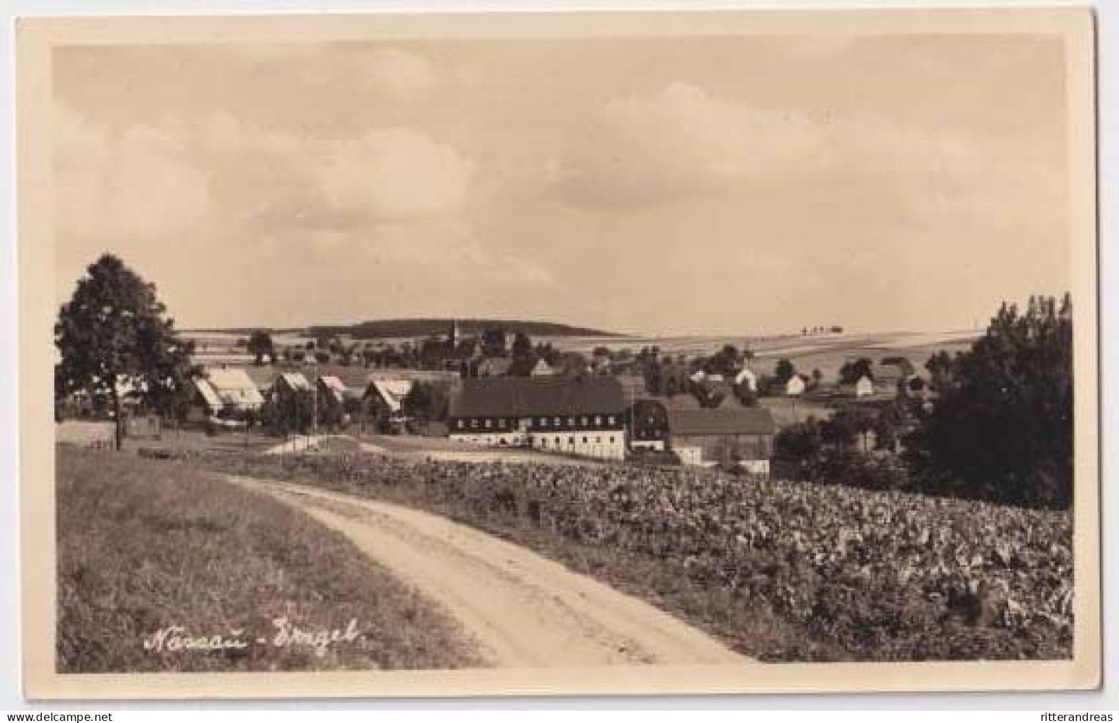
[[(177, 417), (153, 413), (122, 384), (132, 444), (173, 447), (186, 434), (195, 444), (205, 435), (203, 444), (273, 451), (404, 448), (479, 458), (485, 450), (768, 477), (782, 430), (827, 422), (837, 410), (854, 424), (853, 448), (880, 457), (899, 451), (912, 412), (931, 402), (935, 387), (935, 365), (911, 360), (899, 343), (824, 326), (741, 346), (668, 340), (665, 351), (657, 340), (534, 342), (524, 332), (454, 321), (420, 339), (185, 335), (196, 375)], [(943, 345), (938, 353), (947, 353)], [(60, 421), (104, 424), (112, 415), (104, 396), (85, 390), (58, 406)]]

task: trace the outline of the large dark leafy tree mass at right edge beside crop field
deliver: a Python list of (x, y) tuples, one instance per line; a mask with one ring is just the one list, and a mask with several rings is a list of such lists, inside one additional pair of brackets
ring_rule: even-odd
[(952, 360), (951, 379), (908, 440), (933, 492), (1064, 507), (1072, 502), (1072, 302), (1004, 304)]

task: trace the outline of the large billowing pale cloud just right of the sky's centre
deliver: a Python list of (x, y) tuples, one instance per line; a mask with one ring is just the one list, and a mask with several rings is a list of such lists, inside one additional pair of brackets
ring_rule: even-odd
[(608, 103), (546, 175), (576, 203), (626, 206), (769, 185), (825, 161), (799, 111), (753, 108), (684, 83)]

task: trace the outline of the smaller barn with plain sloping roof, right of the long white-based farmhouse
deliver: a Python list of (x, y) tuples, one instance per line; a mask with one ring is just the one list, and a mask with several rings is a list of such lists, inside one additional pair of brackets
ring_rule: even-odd
[(769, 475), (777, 426), (768, 409), (668, 409), (669, 445), (680, 462), (704, 467), (740, 466)]

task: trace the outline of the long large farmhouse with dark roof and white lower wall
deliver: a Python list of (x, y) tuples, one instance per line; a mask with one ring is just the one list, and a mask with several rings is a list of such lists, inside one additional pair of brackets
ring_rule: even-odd
[(626, 396), (609, 377), (464, 379), (450, 398), (451, 439), (626, 457)]

